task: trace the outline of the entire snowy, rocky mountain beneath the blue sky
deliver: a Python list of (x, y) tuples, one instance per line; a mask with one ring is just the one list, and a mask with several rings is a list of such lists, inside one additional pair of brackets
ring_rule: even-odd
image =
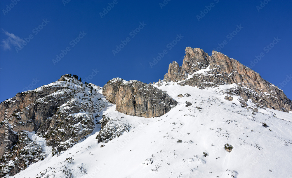
[(78, 78), (0, 104), (1, 177), (292, 177), (292, 102), (235, 59), (187, 47), (152, 84)]

